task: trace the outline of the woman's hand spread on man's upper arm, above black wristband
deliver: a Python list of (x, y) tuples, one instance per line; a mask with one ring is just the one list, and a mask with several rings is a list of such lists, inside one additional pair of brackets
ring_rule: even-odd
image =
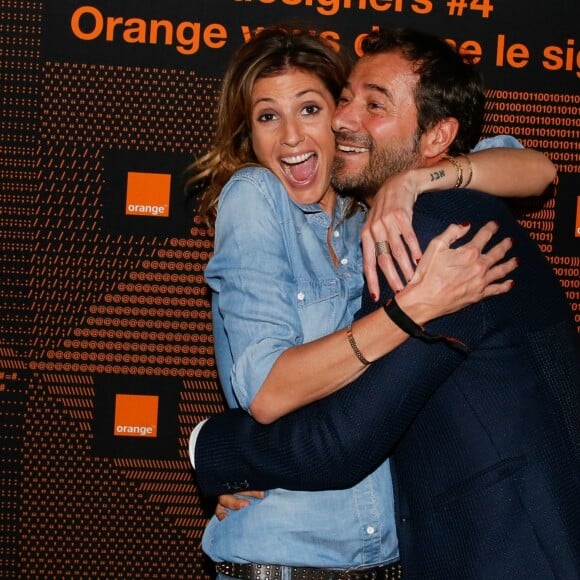
[(451, 249), (450, 246), (463, 237), (469, 227), (451, 225), (433, 238), (407, 288), (397, 296), (397, 302), (414, 301), (415, 307), (424, 305), (420, 308), (419, 320), (415, 319), (419, 324), (512, 288), (513, 280), (505, 280), (505, 277), (517, 268), (517, 258), (504, 260), (513, 245), (511, 238), (504, 238), (483, 252), (498, 231), (498, 224), (492, 221), (485, 224), (470, 242)]

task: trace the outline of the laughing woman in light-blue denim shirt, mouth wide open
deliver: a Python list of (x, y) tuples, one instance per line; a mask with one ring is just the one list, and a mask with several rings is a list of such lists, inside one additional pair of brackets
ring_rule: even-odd
[[(218, 145), (194, 167), (194, 181), (210, 180), (206, 215), (219, 197), (206, 277), (215, 292), (220, 378), (228, 403), (260, 421), (344, 386), (407, 338), (382, 309), (349, 324), (362, 291), (364, 214), (330, 187), (330, 119), (347, 73), (340, 55), (308, 33), (262, 32), (234, 57), (224, 78)], [(477, 187), (477, 156), (470, 157)], [(517, 162), (510, 161), (512, 170)], [(414, 194), (421, 190), (419, 184)], [(494, 265), (509, 240), (481, 255), (495, 231), (488, 224), (470, 249), (449, 250), (468, 229), (452, 226), (430, 244), (399, 292), (397, 302), (419, 324), (509, 289), (509, 281), (496, 280), (514, 260)], [(479, 267), (464, 263), (474, 247)], [(392, 506), (377, 498), (388, 497), (389, 486), (385, 463), (350, 490), (272, 490), (250, 510), (214, 518), (204, 550), (217, 562), (333, 569), (386, 564), (396, 557), (394, 532), (383, 529)]]

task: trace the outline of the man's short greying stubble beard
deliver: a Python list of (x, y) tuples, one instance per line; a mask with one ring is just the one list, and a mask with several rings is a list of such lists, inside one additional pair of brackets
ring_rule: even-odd
[(339, 142), (369, 150), (369, 161), (358, 173), (345, 172), (343, 159), (334, 160), (332, 167), (332, 185), (344, 196), (350, 196), (359, 201), (374, 197), (385, 181), (407, 169), (417, 167), (420, 159), (420, 132), (417, 131), (407, 143), (392, 140), (385, 147), (377, 147), (369, 136), (336, 133)]

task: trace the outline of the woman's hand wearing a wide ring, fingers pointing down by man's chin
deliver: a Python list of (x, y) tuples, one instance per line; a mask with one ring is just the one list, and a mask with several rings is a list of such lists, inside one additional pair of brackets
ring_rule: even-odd
[[(424, 191), (415, 179), (414, 170), (390, 177), (373, 198), (366, 222), (361, 230), (364, 273), (371, 296), (379, 298), (377, 263), (389, 286), (398, 292), (413, 277), (421, 259), (419, 241), (411, 225), (413, 206)], [(377, 255), (376, 242), (387, 242), (389, 253)], [(395, 267), (399, 265), (405, 280)]]

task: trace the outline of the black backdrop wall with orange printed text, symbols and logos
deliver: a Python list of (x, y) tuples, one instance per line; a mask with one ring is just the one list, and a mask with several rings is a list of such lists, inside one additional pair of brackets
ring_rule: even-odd
[[(223, 399), (183, 194), (250, 30), (356, 49), (411, 25), (480, 56), (486, 135), (558, 164), (517, 208), (580, 327), (580, 9), (535, 0), (0, 0), (0, 576), (209, 577), (187, 457)], [(159, 21), (161, 23), (159, 24)], [(142, 184), (146, 183), (146, 188)]]

